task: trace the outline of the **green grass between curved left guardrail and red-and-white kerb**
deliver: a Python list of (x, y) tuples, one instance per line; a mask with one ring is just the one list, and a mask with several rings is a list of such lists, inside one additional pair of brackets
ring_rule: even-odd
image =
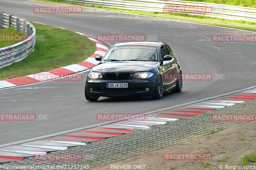
[(69, 30), (33, 23), (36, 27), (35, 51), (19, 63), (0, 69), (0, 80), (15, 78), (84, 61), (96, 51), (85, 36)]

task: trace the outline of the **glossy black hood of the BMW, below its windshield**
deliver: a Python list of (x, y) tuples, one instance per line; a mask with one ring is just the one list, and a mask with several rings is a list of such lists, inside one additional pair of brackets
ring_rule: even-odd
[[(146, 61), (110, 61), (100, 63), (92, 68), (92, 71), (108, 72), (140, 72), (148, 71), (159, 65), (159, 62)], [(119, 71), (116, 71), (119, 70)]]

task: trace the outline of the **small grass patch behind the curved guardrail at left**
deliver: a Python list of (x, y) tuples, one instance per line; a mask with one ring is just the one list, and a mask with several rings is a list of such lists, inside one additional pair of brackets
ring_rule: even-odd
[(10, 45), (14, 45), (16, 43), (18, 43), (19, 41), (17, 42), (6, 42), (5, 40), (5, 35), (10, 35), (10, 34), (22, 34), (22, 32), (19, 32), (19, 33), (16, 33), (16, 28), (14, 27), (9, 27), (7, 29), (0, 29), (0, 48), (3, 48), (3, 47), (7, 47), (7, 46), (10, 46)]

